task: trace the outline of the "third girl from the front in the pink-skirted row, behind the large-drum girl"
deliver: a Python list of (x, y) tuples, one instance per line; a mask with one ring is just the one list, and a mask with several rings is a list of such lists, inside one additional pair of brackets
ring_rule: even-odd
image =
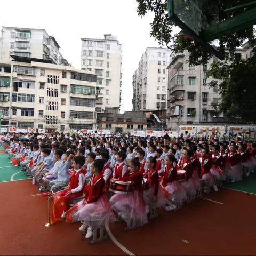
[(167, 199), (159, 183), (159, 175), (156, 171), (156, 157), (150, 156), (146, 164), (148, 168), (146, 181), (146, 183), (148, 183), (148, 189), (144, 191), (143, 198), (146, 204), (146, 212), (148, 213), (150, 205), (156, 204), (156, 207), (165, 207)]

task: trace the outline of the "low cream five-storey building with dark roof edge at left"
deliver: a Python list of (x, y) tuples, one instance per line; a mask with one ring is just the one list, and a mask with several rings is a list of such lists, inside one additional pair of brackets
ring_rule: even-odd
[(95, 129), (96, 75), (49, 60), (0, 60), (2, 125)]

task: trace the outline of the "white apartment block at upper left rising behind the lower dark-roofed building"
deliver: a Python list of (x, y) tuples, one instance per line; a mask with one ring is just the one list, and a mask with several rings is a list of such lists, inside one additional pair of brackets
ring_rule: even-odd
[(3, 27), (0, 34), (0, 60), (11, 60), (10, 55), (51, 60), (68, 65), (60, 46), (44, 29)]

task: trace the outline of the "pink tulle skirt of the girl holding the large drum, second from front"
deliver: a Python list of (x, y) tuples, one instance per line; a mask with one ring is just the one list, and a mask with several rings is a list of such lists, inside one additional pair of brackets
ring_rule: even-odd
[(111, 209), (116, 213), (123, 212), (125, 220), (133, 219), (136, 226), (148, 223), (142, 191), (134, 190), (129, 194), (114, 194), (109, 202)]

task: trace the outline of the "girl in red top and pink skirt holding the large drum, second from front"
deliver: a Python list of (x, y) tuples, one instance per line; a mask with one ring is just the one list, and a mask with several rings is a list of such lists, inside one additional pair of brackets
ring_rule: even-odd
[(143, 174), (139, 170), (139, 159), (132, 159), (130, 169), (125, 173), (124, 177), (119, 178), (119, 180), (133, 181), (134, 190), (129, 194), (114, 194), (109, 200), (111, 208), (117, 212), (124, 221), (127, 222), (128, 219), (132, 219), (135, 226), (143, 226), (148, 223), (145, 203), (143, 201)]

